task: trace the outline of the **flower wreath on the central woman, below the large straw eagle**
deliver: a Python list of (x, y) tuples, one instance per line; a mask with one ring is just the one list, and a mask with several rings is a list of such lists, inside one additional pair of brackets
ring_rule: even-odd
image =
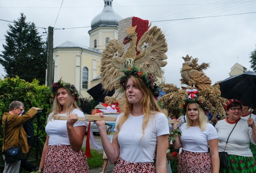
[(142, 72), (141, 70), (138, 70), (138, 68), (136, 68), (135, 66), (132, 66), (131, 68), (123, 69), (121, 70), (121, 72), (124, 73), (124, 75), (119, 78), (122, 89), (126, 88), (125, 85), (128, 80), (128, 77), (135, 76), (142, 79), (142, 81), (146, 84), (146, 86), (150, 89), (150, 91), (155, 97), (159, 95), (160, 87), (158, 86), (158, 84), (155, 83), (155, 80), (152, 74)]

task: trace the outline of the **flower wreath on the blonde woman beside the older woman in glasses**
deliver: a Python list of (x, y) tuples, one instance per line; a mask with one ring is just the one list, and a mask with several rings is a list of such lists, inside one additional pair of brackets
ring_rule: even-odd
[(202, 107), (204, 113), (207, 115), (207, 113), (208, 113), (208, 105), (206, 104), (205, 101), (202, 101), (201, 99), (198, 99), (196, 97), (194, 97), (194, 98), (186, 98), (186, 99), (183, 100), (183, 103), (180, 106), (180, 108), (182, 109), (182, 114), (183, 115), (186, 114), (186, 108), (187, 108), (189, 103), (198, 103), (198, 105), (200, 105), (200, 107)]

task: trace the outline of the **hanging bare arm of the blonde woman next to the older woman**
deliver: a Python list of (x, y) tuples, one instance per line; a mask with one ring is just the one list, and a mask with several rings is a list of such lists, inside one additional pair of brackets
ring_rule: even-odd
[(220, 169), (220, 158), (218, 151), (218, 139), (208, 140), (210, 155), (212, 158), (212, 173), (218, 173)]

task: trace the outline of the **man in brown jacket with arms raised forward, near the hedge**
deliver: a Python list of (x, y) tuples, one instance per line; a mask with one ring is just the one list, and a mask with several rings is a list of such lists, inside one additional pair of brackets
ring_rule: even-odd
[(10, 152), (10, 148), (21, 147), (22, 153), (28, 152), (27, 135), (22, 123), (34, 117), (38, 110), (41, 110), (41, 108), (32, 107), (24, 115), (19, 116), (23, 111), (23, 103), (20, 101), (13, 101), (9, 105), (9, 112), (4, 112), (2, 117), (4, 132), (2, 151), (4, 152), (3, 157), (5, 161), (3, 173), (19, 172), (21, 158), (17, 159), (16, 155), (12, 156), (13, 152), (18, 152), (19, 150), (12, 150), (12, 152)]

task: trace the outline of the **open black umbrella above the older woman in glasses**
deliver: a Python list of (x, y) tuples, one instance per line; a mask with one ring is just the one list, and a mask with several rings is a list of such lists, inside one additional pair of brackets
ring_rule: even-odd
[(243, 105), (256, 106), (256, 73), (245, 72), (220, 82), (221, 97), (239, 99)]

